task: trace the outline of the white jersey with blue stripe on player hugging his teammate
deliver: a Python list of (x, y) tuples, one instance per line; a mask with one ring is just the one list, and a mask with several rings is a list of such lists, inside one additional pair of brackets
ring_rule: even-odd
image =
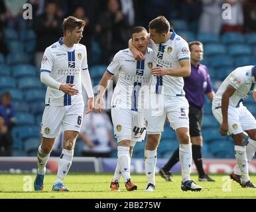
[[(178, 36), (173, 30), (170, 39), (164, 43), (155, 44), (151, 40), (153, 48), (153, 67), (160, 66), (162, 68), (180, 68), (180, 60), (190, 60), (190, 50), (188, 43), (182, 37)], [(170, 75), (153, 76), (150, 90), (153, 93), (164, 95), (184, 95), (184, 80), (182, 77)]]

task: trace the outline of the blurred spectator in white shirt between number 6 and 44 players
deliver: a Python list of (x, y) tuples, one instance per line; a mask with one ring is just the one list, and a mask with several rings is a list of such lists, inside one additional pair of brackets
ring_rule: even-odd
[(92, 112), (84, 116), (80, 138), (86, 143), (82, 152), (88, 157), (109, 157), (115, 149), (112, 125), (105, 112)]

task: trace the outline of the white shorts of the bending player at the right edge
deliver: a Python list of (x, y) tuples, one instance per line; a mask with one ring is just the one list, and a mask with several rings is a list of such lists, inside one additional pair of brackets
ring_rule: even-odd
[[(212, 113), (217, 121), (222, 124), (222, 108), (218, 103), (212, 103)], [(227, 122), (229, 134), (238, 134), (243, 131), (256, 129), (256, 121), (248, 109), (240, 104), (240, 107), (228, 106)]]

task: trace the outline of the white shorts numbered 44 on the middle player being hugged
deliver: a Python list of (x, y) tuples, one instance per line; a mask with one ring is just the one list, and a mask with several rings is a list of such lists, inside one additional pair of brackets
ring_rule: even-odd
[(117, 142), (131, 140), (134, 143), (144, 140), (147, 123), (144, 111), (135, 112), (114, 107), (111, 109), (111, 117)]

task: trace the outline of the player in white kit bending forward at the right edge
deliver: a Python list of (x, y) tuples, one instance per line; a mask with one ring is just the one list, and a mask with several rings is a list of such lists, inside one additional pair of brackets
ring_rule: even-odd
[[(212, 113), (221, 124), (220, 133), (222, 136), (229, 134), (235, 142), (238, 166), (230, 178), (242, 187), (253, 188), (255, 185), (250, 181), (247, 162), (253, 158), (256, 150), (256, 121), (242, 102), (253, 93), (255, 83), (255, 66), (236, 68), (222, 82), (212, 101)], [(249, 135), (247, 146), (244, 131)]]

